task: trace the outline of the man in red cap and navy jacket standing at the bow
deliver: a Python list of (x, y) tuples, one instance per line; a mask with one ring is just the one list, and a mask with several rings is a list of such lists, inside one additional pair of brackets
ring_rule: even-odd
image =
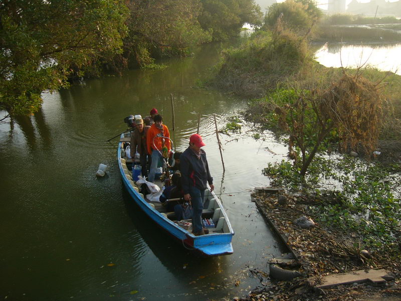
[(200, 149), (202, 146), (205, 146), (202, 137), (193, 134), (189, 138), (189, 147), (179, 157), (182, 190), (185, 201), (192, 203), (192, 233), (196, 236), (209, 233), (202, 227), (202, 210), (207, 183), (211, 191), (215, 189), (205, 150)]

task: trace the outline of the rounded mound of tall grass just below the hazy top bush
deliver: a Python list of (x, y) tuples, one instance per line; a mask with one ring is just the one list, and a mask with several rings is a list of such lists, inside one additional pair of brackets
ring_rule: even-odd
[(308, 50), (306, 41), (290, 30), (258, 31), (238, 48), (223, 52), (215, 84), (240, 95), (260, 97), (307, 65)]

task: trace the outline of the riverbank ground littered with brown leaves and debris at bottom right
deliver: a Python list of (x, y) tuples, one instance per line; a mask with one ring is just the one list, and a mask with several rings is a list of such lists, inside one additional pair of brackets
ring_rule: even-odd
[[(307, 216), (318, 217), (311, 210), (316, 200), (301, 195), (285, 195), (285, 202), (278, 202), (276, 194), (256, 192), (255, 203), (262, 215), (276, 225), (276, 229), (286, 238), (287, 244), (299, 258), (302, 276), (291, 281), (275, 281), (261, 285), (240, 300), (387, 300), (401, 297), (401, 261), (399, 254), (369, 252), (360, 249), (360, 236), (342, 229), (317, 223), (311, 229), (302, 229), (294, 221)], [(367, 252), (366, 252), (367, 251)], [(388, 270), (394, 277), (384, 284), (369, 281), (334, 286), (328, 289), (316, 288), (324, 275), (345, 273), (362, 269)], [(313, 278), (311, 278), (313, 277)], [(261, 282), (263, 283), (263, 282)]]

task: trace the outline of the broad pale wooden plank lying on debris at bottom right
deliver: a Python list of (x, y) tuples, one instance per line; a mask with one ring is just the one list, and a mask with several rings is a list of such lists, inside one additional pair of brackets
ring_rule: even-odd
[(358, 270), (349, 273), (334, 274), (322, 277), (321, 284), (317, 285), (319, 288), (328, 288), (335, 285), (350, 284), (354, 282), (365, 282), (370, 280), (375, 283), (385, 282), (386, 279), (390, 279), (392, 276), (385, 269), (369, 269), (369, 270)]

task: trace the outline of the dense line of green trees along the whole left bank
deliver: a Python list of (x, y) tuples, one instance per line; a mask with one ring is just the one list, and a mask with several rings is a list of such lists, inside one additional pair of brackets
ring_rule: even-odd
[(237, 36), (261, 12), (254, 0), (5, 0), (0, 18), (0, 110), (26, 115), (44, 90), (154, 67), (156, 57)]

